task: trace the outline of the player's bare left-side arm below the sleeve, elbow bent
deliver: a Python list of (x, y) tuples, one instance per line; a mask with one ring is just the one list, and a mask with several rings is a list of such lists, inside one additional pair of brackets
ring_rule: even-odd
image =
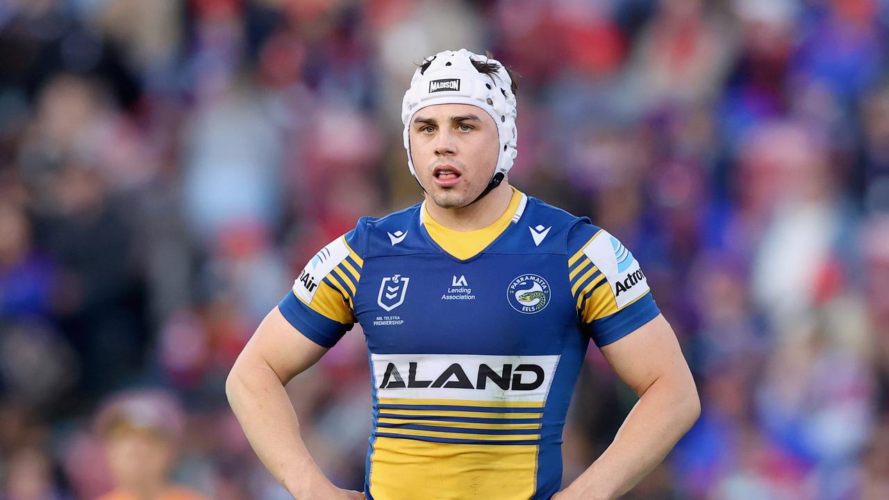
[(326, 351), (296, 331), (278, 308), (271, 310), (228, 374), (228, 402), (262, 464), (292, 496), (364, 498), (324, 477), (300, 437), (300, 423), (284, 391), (284, 385)]

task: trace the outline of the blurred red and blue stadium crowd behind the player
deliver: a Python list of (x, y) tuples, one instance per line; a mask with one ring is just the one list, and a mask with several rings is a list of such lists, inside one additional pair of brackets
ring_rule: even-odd
[[(629, 497), (889, 498), (885, 0), (0, 2), (0, 498), (108, 491), (93, 421), (139, 387), (184, 407), (181, 483), (285, 498), (228, 368), (318, 248), (420, 200), (401, 97), (457, 47), (520, 75), (510, 180), (632, 249), (699, 384)], [(360, 488), (360, 327), (289, 390)], [(634, 402), (591, 349), (566, 481)]]

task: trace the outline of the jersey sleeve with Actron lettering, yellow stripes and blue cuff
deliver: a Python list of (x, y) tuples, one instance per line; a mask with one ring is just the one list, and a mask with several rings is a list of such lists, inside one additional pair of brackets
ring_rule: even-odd
[(568, 280), (578, 317), (603, 347), (642, 327), (661, 310), (645, 274), (626, 246), (589, 222), (568, 235)]

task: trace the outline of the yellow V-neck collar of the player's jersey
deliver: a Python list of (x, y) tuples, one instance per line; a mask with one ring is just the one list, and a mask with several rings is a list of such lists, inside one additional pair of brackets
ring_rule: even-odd
[(422, 206), (422, 222), (429, 236), (438, 246), (441, 246), (448, 254), (465, 261), (485, 250), (509, 227), (509, 222), (512, 222), (513, 216), (517, 214), (519, 208), (524, 208), (522, 206), (524, 200), (525, 195), (516, 188), (512, 188), (512, 198), (509, 200), (506, 211), (490, 226), (480, 230), (458, 231), (445, 228), (429, 215), (426, 210), (426, 202), (423, 202)]

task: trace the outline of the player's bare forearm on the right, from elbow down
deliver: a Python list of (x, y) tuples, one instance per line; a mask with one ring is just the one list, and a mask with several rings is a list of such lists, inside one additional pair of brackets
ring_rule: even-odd
[(660, 464), (701, 414), (691, 375), (661, 378), (645, 391), (602, 456), (568, 488), (577, 498), (623, 495)]

